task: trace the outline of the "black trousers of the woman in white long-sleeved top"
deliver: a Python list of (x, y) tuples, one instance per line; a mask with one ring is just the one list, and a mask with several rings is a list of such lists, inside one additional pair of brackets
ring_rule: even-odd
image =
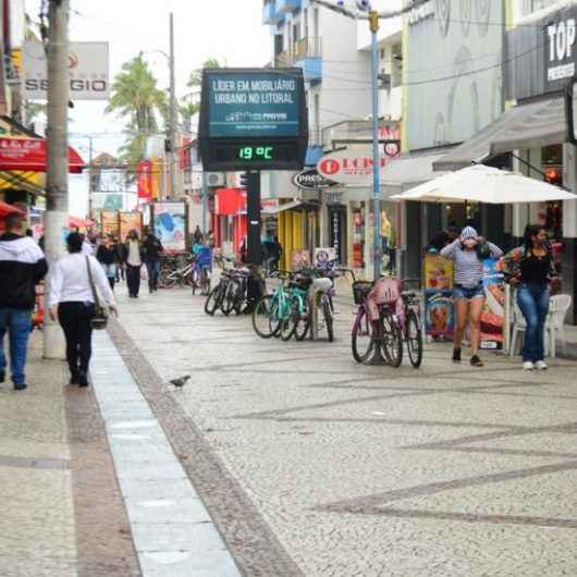
[(66, 360), (72, 377), (86, 376), (93, 354), (93, 328), (90, 319), (94, 305), (60, 303), (58, 319), (66, 337)]

